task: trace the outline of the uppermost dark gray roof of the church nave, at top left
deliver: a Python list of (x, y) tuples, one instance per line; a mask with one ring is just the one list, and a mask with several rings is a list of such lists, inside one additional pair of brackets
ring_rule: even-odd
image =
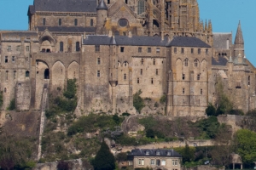
[(34, 0), (35, 11), (96, 13), (96, 0)]

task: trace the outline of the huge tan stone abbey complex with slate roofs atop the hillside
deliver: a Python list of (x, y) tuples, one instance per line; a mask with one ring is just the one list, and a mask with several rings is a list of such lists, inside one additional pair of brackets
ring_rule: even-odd
[(27, 15), (28, 31), (0, 31), (3, 109), (40, 110), (73, 78), (84, 114), (136, 114), (141, 91), (143, 114), (204, 116), (219, 81), (235, 109), (256, 107), (241, 23), (234, 42), (213, 33), (196, 0), (34, 0)]

